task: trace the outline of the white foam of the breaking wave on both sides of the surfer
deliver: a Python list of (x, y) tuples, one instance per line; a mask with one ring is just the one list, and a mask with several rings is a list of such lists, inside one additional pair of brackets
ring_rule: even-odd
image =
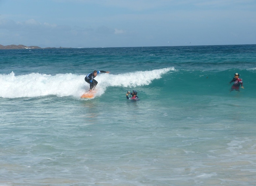
[[(161, 78), (161, 75), (167, 73), (172, 68), (162, 68), (151, 71), (137, 71), (124, 74), (106, 74), (100, 73), (97, 80), (98, 93), (101, 95), (107, 87), (123, 86), (136, 87), (149, 85), (152, 80)], [(89, 90), (89, 84), (84, 81), (85, 75), (67, 74), (39, 74), (31, 73), (15, 76), (15, 73), (0, 74), (0, 97), (37, 97), (45, 95), (74, 96), (80, 97), (86, 90)]]

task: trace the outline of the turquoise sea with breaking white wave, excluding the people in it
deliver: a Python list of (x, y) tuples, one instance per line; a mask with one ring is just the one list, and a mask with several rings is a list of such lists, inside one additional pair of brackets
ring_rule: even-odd
[(255, 78), (255, 44), (0, 50), (0, 186), (256, 185)]

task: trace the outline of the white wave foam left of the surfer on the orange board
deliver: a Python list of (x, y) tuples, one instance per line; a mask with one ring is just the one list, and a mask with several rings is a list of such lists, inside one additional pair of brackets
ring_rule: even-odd
[(15, 76), (14, 72), (0, 75), (0, 96), (5, 98), (37, 97), (45, 95), (70, 96), (82, 93), (84, 75), (31, 73)]

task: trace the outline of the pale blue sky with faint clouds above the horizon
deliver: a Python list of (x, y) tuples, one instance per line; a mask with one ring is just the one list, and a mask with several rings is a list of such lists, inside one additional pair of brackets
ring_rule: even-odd
[(0, 0), (0, 44), (256, 44), (255, 0)]

